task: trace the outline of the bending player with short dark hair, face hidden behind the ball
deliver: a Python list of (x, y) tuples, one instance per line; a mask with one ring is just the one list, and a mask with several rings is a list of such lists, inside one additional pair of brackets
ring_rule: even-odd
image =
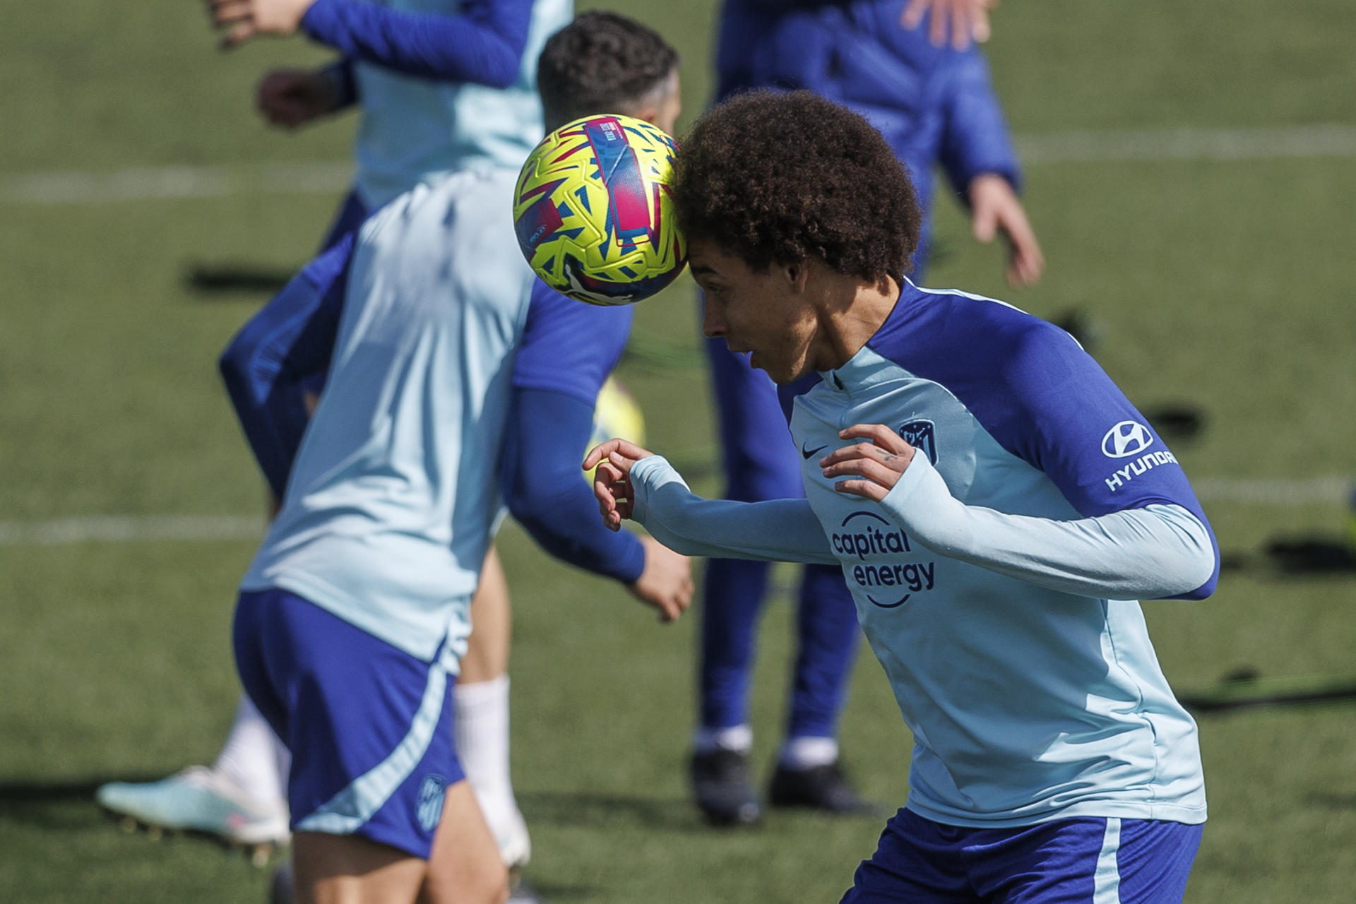
[[(641, 26), (583, 16), (542, 52), (548, 122), (602, 108), (671, 129), (675, 64)], [(686, 560), (586, 518), (571, 450), (632, 314), (532, 276), (507, 214), (515, 176), (485, 165), (430, 179), (317, 258), (277, 302), (319, 295), (296, 306), (317, 314), (260, 347), (241, 386), (252, 404), (236, 400), (251, 443), (267, 443), (290, 419), (286, 396), (330, 370), (235, 626), (241, 680), (293, 754), (306, 899), (503, 893), (446, 694), (496, 487), (548, 550), (621, 580), (666, 619), (690, 598)]]

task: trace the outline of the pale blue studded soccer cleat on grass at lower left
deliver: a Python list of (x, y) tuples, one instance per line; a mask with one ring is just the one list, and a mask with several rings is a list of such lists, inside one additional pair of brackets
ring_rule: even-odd
[(153, 836), (164, 829), (214, 835), (250, 848), (260, 866), (290, 838), (286, 804), (254, 801), (205, 766), (190, 766), (159, 782), (110, 782), (95, 792), (95, 800), (122, 817), (123, 828), (145, 825)]

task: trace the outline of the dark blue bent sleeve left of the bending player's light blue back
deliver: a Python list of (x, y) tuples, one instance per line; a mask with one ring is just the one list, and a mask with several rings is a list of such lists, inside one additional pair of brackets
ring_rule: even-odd
[(348, 234), (245, 323), (218, 362), (245, 440), (278, 499), (306, 430), (305, 392), (330, 369), (353, 258)]

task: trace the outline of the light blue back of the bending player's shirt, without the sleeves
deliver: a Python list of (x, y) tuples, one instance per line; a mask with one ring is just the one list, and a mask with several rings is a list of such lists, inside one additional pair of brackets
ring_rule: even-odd
[(465, 653), (499, 512), (514, 347), (534, 275), (509, 169), (422, 184), (358, 233), (330, 382), (241, 581), (424, 660)]

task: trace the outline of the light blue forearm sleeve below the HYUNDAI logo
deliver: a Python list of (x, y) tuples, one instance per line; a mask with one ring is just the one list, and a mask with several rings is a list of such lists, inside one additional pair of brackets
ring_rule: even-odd
[(1161, 599), (1212, 588), (1210, 531), (1180, 506), (1077, 520), (1006, 515), (965, 506), (915, 455), (881, 508), (936, 553), (1064, 594)]

